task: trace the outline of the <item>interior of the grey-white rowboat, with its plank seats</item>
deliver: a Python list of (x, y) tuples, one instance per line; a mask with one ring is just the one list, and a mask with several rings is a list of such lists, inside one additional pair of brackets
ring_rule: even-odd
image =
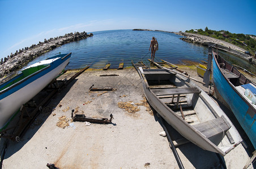
[[(231, 125), (207, 104), (197, 87), (191, 86), (176, 73), (164, 69), (143, 69), (143, 73), (151, 92), (164, 104), (212, 143), (220, 144)], [(229, 142), (233, 142), (232, 137)]]

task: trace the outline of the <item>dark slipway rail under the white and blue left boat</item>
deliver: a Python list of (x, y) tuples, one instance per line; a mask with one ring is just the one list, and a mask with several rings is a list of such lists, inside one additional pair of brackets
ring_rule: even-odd
[[(49, 100), (52, 99), (53, 96), (57, 94), (57, 92), (63, 90), (63, 88), (65, 88), (67, 84), (72, 82), (76, 77), (78, 77), (88, 68), (89, 66), (80, 70), (78, 73), (73, 75), (69, 80), (67, 80), (66, 82), (63, 82), (61, 85), (55, 88), (52, 92), (50, 92), (48, 96), (45, 97), (44, 100), (41, 101), (41, 103), (32, 112), (28, 112), (27, 109), (22, 106), (22, 108), (20, 109), (20, 112), (21, 112), (20, 119), (17, 125), (14, 127), (10, 127), (10, 128), (6, 128), (5, 130), (2, 130), (0, 132), (0, 138), (7, 138), (10, 140), (13, 140), (13, 141), (16, 140), (17, 142), (19, 142), (20, 137), (22, 137), (25, 131), (28, 130), (29, 125), (32, 124), (33, 121), (35, 121), (37, 115), (40, 114), (40, 110), (42, 109), (42, 106), (45, 106), (47, 103), (49, 103)], [(11, 129), (14, 129), (13, 133), (7, 134), (7, 131)]]

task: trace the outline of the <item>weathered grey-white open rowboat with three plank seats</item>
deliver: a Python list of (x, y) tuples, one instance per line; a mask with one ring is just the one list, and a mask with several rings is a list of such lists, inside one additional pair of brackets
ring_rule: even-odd
[(189, 78), (170, 69), (134, 66), (150, 105), (187, 140), (223, 156), (241, 143), (227, 115)]

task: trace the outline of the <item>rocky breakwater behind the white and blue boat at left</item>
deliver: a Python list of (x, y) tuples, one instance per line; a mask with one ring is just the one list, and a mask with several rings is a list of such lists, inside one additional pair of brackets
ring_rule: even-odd
[(50, 38), (44, 40), (44, 42), (39, 42), (37, 45), (32, 45), (31, 47), (22, 48), (22, 50), (17, 50), (15, 54), (8, 55), (0, 62), (0, 78), (5, 77), (5, 75), (10, 74), (16, 70), (23, 68), (27, 65), (29, 61), (32, 61), (38, 56), (53, 50), (56, 47), (62, 46), (66, 43), (79, 41), (87, 37), (93, 36), (92, 33), (87, 34), (86, 32), (75, 32), (68, 33), (63, 36)]

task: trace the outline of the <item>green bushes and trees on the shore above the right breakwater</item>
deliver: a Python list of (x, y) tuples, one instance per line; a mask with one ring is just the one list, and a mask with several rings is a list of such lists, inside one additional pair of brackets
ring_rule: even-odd
[(222, 41), (232, 43), (233, 45), (236, 45), (238, 47), (244, 48), (246, 51), (249, 51), (250, 54), (254, 55), (254, 52), (256, 51), (256, 36), (255, 35), (245, 35), (242, 33), (236, 34), (236, 33), (230, 33), (227, 30), (211, 30), (206, 28), (203, 29), (191, 29), (186, 30), (187, 33), (195, 33), (195, 34), (201, 34), (206, 35), (208, 37), (220, 39)]

